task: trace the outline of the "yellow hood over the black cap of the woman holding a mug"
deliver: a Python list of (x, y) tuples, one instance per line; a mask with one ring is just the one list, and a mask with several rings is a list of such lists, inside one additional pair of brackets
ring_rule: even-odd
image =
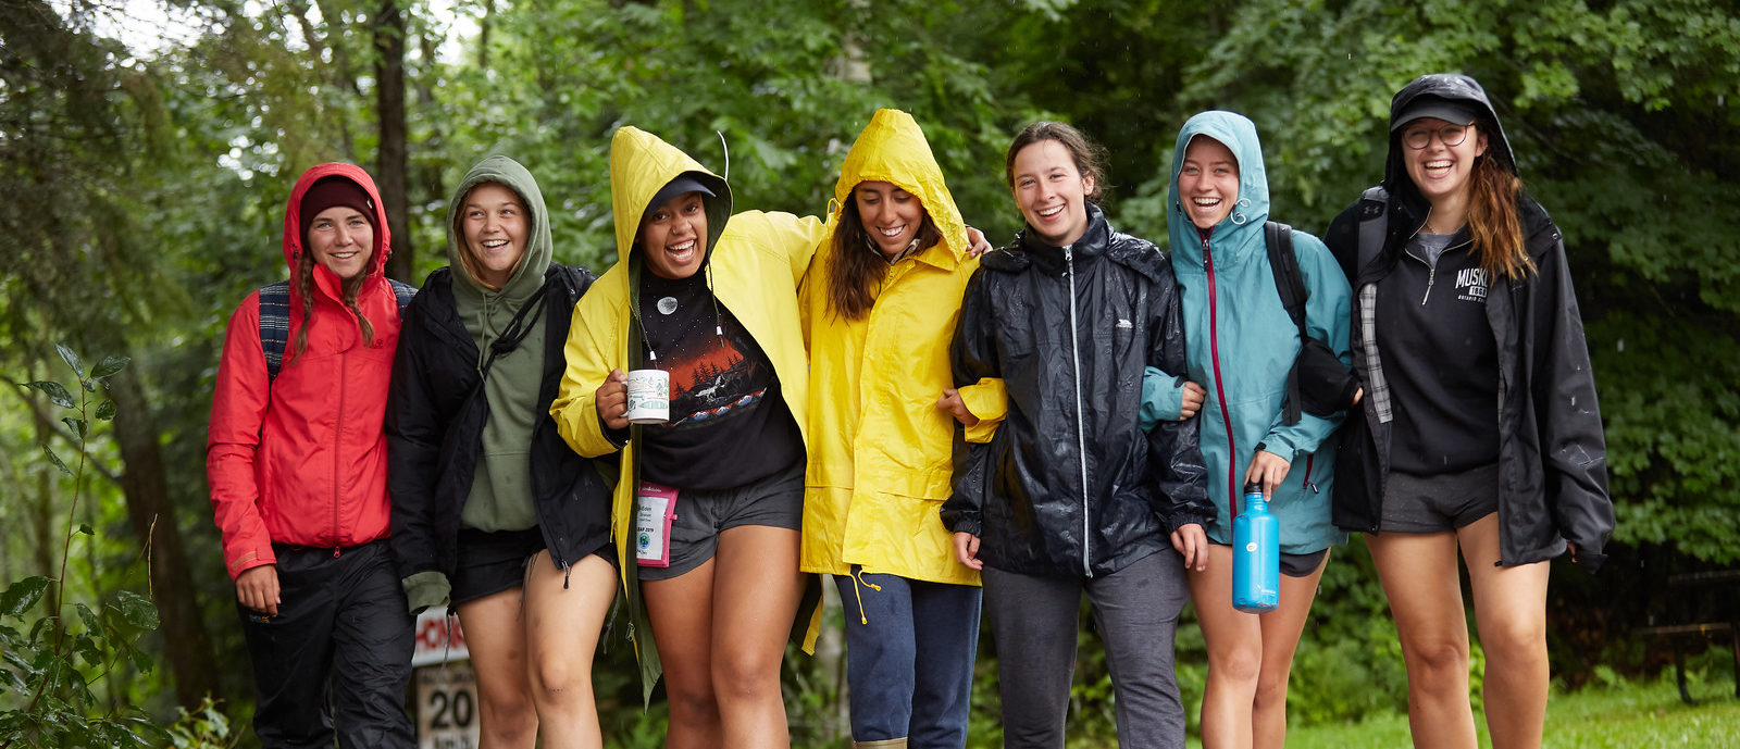
[[(929, 155), (929, 151), (926, 151)], [(640, 231), (640, 215), (654, 195), (689, 172), (713, 191), (706, 205), (706, 261), (731, 219), (731, 186), (677, 146), (639, 127), (623, 125), (611, 137), (611, 214), (616, 217), (616, 257), (626, 261)], [(938, 177), (941, 182), (941, 177)], [(947, 193), (945, 193), (947, 195)], [(705, 261), (703, 261), (705, 262)]]

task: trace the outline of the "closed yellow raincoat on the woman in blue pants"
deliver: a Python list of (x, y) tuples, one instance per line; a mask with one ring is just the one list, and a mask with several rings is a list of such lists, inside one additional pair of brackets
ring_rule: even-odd
[[(828, 306), (833, 231), (853, 189), (893, 182), (919, 198), (943, 238), (889, 268), (861, 320)], [(847, 247), (846, 252), (873, 252)], [(919, 123), (880, 109), (858, 136), (833, 188), (828, 233), (816, 249), (802, 304), (809, 335), (809, 469), (804, 488), (804, 572), (863, 572), (980, 584), (955, 561), (938, 516), (948, 499), (955, 419), (936, 408), (952, 388), (948, 344), (967, 278), (966, 224)], [(967, 429), (985, 441), (1004, 410), (1002, 381), (960, 389), (985, 417)]]

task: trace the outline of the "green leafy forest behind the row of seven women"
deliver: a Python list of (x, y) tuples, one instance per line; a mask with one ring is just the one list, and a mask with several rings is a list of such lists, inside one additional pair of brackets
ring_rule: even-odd
[[(284, 202), (315, 163), (374, 174), (395, 278), (445, 262), (449, 189), (492, 153), (538, 177), (557, 259), (602, 273), (619, 125), (713, 170), (722, 136), (740, 209), (821, 214), (870, 113), (908, 109), (1002, 243), (1009, 137), (1060, 118), (1110, 149), (1114, 224), (1164, 243), (1178, 127), (1218, 108), (1256, 122), (1274, 217), (1321, 233), (1382, 177), (1390, 96), (1432, 71), (1493, 96), (1587, 323), (1618, 532), (1599, 577), (1554, 565), (1556, 681), (1650, 674), (1665, 645), (1636, 631), (1698, 615), (1665, 577), (1740, 563), (1733, 2), (0, 0), (0, 746), (157, 742), (146, 723), (207, 697), (251, 714), (205, 422), (224, 321), (285, 276)], [(68, 363), (80, 382), (44, 384)], [(1357, 539), (1312, 613), (1295, 725), (1402, 711)], [(597, 669), (606, 735), (656, 746), (623, 629)], [(1194, 624), (1178, 646), (1194, 702)], [(974, 744), (997, 735), (995, 655), (985, 636)], [(837, 633), (788, 660), (797, 739), (837, 740)], [(1072, 699), (1082, 733), (1110, 732), (1086, 633)]]

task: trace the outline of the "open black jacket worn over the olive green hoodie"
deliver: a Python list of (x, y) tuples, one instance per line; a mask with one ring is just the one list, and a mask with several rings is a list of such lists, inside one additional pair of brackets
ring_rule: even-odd
[[(585, 268), (550, 264), (545, 271), (545, 365), (532, 428), (532, 507), (550, 561), (567, 570), (611, 540), (611, 485), (562, 441), (550, 401), (562, 384), (574, 302), (597, 280)], [(536, 304), (536, 299), (527, 301)], [(522, 341), (522, 346), (531, 341)], [(472, 494), (482, 450), (489, 398), (478, 375), (478, 351), (452, 297), (452, 271), (430, 275), (405, 308), (393, 384), (386, 403), (386, 485), (393, 495), (393, 554), (400, 577), (440, 572), (458, 563), (459, 513)]]

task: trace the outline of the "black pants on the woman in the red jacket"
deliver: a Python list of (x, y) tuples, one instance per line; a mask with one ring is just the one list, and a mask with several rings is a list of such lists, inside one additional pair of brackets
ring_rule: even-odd
[(412, 749), (412, 624), (386, 540), (278, 554), (277, 617), (237, 605), (266, 749)]

